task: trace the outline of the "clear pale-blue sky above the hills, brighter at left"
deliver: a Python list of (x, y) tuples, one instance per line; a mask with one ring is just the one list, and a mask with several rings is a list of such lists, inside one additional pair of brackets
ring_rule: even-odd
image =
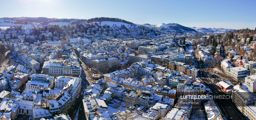
[(186, 27), (256, 27), (255, 0), (1, 0), (0, 18), (120, 18), (135, 24)]

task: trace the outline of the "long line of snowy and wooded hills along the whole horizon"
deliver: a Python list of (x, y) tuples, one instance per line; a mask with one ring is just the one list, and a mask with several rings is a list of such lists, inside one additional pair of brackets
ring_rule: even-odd
[[(40, 23), (43, 25), (47, 25), (50, 22), (69, 22), (71, 24), (77, 24), (77, 23), (92, 23), (92, 22), (102, 22), (102, 21), (112, 21), (112, 22), (123, 22), (126, 24), (131, 24), (131, 25), (138, 25), (134, 24), (130, 21), (122, 20), (119, 18), (108, 18), (108, 17), (96, 17), (96, 18), (91, 18), (91, 19), (56, 19), (56, 18), (46, 18), (46, 17), (4, 17), (0, 18), (4, 20), (14, 20), (17, 21), (19, 24), (24, 24), (26, 22), (36, 22)], [(142, 26), (148, 26), (150, 24), (143, 24)], [(224, 33), (228, 31), (233, 31), (235, 29), (224, 29), (224, 28), (196, 28), (196, 27), (185, 27), (177, 23), (162, 23), (159, 25), (150, 25), (150, 26), (155, 26), (157, 28), (167, 28), (171, 29), (174, 32), (211, 32), (211, 33)]]

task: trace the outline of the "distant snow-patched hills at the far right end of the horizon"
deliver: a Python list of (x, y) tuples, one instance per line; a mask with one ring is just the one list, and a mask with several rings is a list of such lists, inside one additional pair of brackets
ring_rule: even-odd
[(192, 29), (195, 29), (196, 31), (203, 32), (203, 33), (225, 33), (225, 32), (235, 30), (235, 29), (224, 29), (224, 28), (196, 28), (196, 27), (192, 27)]

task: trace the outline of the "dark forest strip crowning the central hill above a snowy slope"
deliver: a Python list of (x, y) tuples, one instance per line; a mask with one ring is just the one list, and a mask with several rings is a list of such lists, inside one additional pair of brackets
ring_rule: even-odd
[(91, 23), (91, 22), (102, 22), (102, 21), (123, 22), (123, 23), (134, 25), (134, 23), (126, 21), (126, 20), (122, 20), (119, 18), (107, 18), (107, 17), (92, 18), (92, 19), (86, 20), (85, 22)]

